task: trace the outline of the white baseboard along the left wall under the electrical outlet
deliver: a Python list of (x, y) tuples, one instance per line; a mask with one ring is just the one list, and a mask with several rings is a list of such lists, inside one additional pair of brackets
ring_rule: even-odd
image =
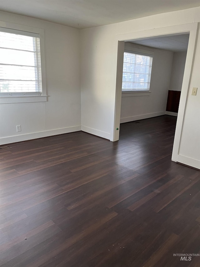
[(67, 128), (61, 128), (61, 129), (55, 129), (55, 130), (49, 130), (49, 131), (42, 131), (37, 133), (29, 133), (29, 134), (23, 134), (23, 135), (17, 135), (17, 136), (9, 136), (9, 137), (3, 137), (0, 139), (0, 145), (5, 144), (11, 144), (26, 140), (32, 140), (47, 136), (53, 136), (53, 135), (59, 135), (64, 133), (70, 133), (70, 132), (76, 132), (81, 131), (81, 126), (73, 126), (73, 127), (67, 127)]

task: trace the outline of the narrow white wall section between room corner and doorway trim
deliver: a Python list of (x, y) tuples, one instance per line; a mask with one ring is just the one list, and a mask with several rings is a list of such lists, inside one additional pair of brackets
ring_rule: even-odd
[(107, 139), (110, 139), (114, 118), (113, 34), (116, 27), (117, 24), (111, 24), (81, 30), (82, 130)]

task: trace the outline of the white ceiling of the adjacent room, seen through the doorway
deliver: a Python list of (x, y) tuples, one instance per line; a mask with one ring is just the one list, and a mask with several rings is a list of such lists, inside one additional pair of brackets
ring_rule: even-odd
[(170, 35), (166, 37), (156, 37), (131, 41), (134, 44), (141, 44), (148, 47), (163, 49), (171, 52), (187, 51), (189, 34)]

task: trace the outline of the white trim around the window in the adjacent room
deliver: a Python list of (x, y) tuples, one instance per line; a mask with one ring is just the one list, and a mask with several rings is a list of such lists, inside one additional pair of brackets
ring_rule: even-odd
[[(151, 56), (152, 58), (154, 57), (154, 52), (153, 51), (135, 48), (135, 47), (132, 46), (132, 44), (126, 44), (125, 43), (124, 52), (133, 53), (133, 54), (141, 54), (141, 55), (145, 55), (145, 56)], [(122, 90), (122, 97), (127, 97), (127, 96), (149, 96), (150, 95), (150, 93), (151, 93), (150, 86), (151, 86), (151, 79), (152, 79), (152, 73), (153, 73), (153, 61), (154, 60), (152, 59), (151, 78), (150, 78), (149, 90), (141, 90), (141, 91), (139, 91), (139, 90), (123, 91)]]

